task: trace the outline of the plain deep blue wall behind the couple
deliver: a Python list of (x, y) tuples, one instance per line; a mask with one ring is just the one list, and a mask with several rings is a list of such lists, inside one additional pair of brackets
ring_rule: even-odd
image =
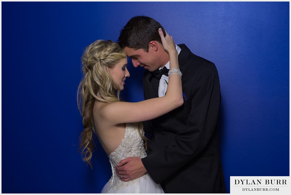
[[(111, 175), (77, 153), (83, 49), (135, 15), (216, 64), (229, 176), (289, 176), (289, 2), (2, 2), (2, 193), (99, 193)], [(129, 64), (122, 97), (143, 100)], [(126, 114), (126, 113), (125, 113)]]

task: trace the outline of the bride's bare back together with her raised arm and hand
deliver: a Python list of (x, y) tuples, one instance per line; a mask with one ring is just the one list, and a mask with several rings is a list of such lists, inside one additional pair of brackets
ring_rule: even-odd
[[(163, 37), (159, 32), (162, 44), (157, 47), (165, 49), (169, 54), (170, 69), (179, 69), (178, 52), (175, 43), (168, 34)], [(179, 75), (172, 75), (166, 95), (136, 103), (96, 101), (93, 107), (93, 119), (96, 133), (107, 154), (113, 152), (120, 144), (125, 134), (125, 123), (137, 123), (155, 119), (183, 104), (182, 82)]]

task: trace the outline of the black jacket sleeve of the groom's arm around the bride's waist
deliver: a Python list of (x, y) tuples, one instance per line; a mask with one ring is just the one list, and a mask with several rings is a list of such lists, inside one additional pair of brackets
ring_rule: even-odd
[(220, 85), (213, 63), (200, 68), (193, 79), (191, 110), (186, 129), (181, 129), (175, 141), (142, 159), (146, 170), (156, 183), (171, 176), (202, 152), (216, 127)]

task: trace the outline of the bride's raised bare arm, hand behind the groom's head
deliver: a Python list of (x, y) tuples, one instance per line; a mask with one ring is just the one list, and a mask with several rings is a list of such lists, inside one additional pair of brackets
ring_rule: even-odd
[[(170, 69), (179, 69), (178, 52), (172, 36), (166, 33), (164, 37), (162, 30), (159, 30), (162, 44), (165, 51), (169, 54)], [(170, 71), (171, 72), (171, 71)], [(159, 98), (148, 99), (141, 102), (115, 102), (103, 107), (102, 113), (110, 123), (133, 123), (141, 122), (162, 116), (183, 104), (182, 82), (179, 74), (169, 76), (166, 95)]]

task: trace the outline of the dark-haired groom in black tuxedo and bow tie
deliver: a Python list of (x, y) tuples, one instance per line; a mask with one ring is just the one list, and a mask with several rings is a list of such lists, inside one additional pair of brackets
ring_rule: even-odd
[[(156, 20), (136, 16), (124, 26), (118, 39), (133, 66), (146, 69), (145, 99), (164, 96), (169, 79), (167, 73), (159, 75), (162, 72), (159, 69), (164, 66), (169, 69), (169, 56), (163, 49), (159, 28), (163, 29)], [(116, 166), (116, 172), (124, 181), (149, 172), (156, 183), (161, 183), (165, 193), (225, 193), (218, 144), (221, 97), (217, 69), (184, 44), (177, 45), (176, 49), (183, 74), (184, 104), (144, 122), (146, 133), (153, 134), (148, 156), (126, 158)]]

